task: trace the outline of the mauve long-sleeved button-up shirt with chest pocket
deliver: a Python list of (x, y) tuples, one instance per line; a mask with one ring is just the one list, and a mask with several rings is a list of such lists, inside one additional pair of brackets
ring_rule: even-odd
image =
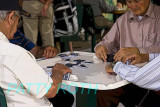
[(126, 12), (98, 45), (106, 46), (111, 54), (122, 47), (138, 47), (141, 53), (160, 52), (160, 7), (150, 2), (141, 20), (132, 11)]

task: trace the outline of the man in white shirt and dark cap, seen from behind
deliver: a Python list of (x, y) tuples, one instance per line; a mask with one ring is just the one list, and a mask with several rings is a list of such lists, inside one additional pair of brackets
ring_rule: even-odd
[(63, 75), (71, 70), (56, 64), (50, 77), (29, 51), (9, 43), (17, 30), (18, 10), (18, 0), (0, 1), (0, 87), (8, 107), (53, 107), (47, 98), (56, 96)]

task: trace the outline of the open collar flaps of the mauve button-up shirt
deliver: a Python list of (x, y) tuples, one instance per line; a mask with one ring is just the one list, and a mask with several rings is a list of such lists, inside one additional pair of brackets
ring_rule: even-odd
[[(154, 14), (154, 9), (153, 9), (153, 4), (152, 4), (152, 2), (150, 2), (149, 8), (148, 8), (148, 10), (147, 10), (147, 12), (146, 12), (146, 14), (145, 14), (144, 16), (149, 16), (149, 17), (151, 17), (151, 18), (155, 18), (155, 14)], [(137, 18), (137, 16), (134, 15), (132, 11), (130, 11), (130, 17), (129, 17), (130, 21), (131, 21), (132, 19), (136, 19), (136, 18)]]

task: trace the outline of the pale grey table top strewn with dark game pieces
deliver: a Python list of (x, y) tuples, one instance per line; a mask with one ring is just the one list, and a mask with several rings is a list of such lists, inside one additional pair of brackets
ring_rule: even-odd
[[(93, 64), (85, 64), (87, 68), (81, 68), (80, 66), (71, 68), (72, 74), (70, 75), (70, 79), (68, 81), (63, 80), (63, 84), (82, 88), (109, 90), (129, 83), (126, 80), (121, 79), (118, 75), (107, 74), (105, 72), (105, 66), (109, 63), (97, 59), (94, 53), (80, 51), (75, 51), (74, 53), (79, 53), (79, 56), (71, 57), (71, 61), (82, 59), (88, 62), (93, 61)], [(57, 62), (66, 64), (65, 59), (62, 59), (59, 56), (37, 61), (43, 69), (46, 69), (47, 66), (53, 66)]]

